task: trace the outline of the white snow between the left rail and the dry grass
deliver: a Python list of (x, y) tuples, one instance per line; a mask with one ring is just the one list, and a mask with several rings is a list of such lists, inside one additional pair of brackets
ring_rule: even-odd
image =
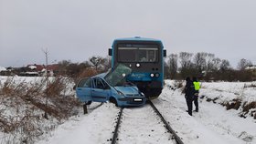
[[(81, 115), (70, 120), (53, 132), (52, 137), (38, 144), (79, 144), (79, 143), (109, 143), (112, 138), (112, 130), (115, 126), (114, 118), (119, 111), (112, 104), (104, 104), (91, 110), (99, 103), (92, 103), (88, 115)], [(92, 107), (92, 108), (91, 108)]]

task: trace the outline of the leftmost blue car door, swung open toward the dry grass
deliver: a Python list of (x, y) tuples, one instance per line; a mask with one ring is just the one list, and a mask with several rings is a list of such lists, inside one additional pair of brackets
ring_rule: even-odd
[(89, 102), (91, 98), (91, 78), (82, 78), (76, 87), (76, 93), (81, 102)]

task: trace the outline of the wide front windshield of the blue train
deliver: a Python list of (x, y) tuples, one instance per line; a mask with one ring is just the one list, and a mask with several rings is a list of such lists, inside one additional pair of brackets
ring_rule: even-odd
[(119, 44), (117, 47), (119, 62), (157, 62), (157, 45)]

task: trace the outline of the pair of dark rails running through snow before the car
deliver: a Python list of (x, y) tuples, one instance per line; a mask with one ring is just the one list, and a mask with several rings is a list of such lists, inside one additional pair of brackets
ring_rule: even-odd
[[(165, 129), (167, 129), (167, 131), (169, 132), (169, 133), (167, 133), (165, 135), (169, 134), (168, 137), (171, 138), (174, 141), (174, 143), (176, 143), (176, 144), (183, 144), (183, 141), (176, 135), (176, 131), (171, 128), (171, 126), (168, 124), (168, 122), (165, 120), (165, 118), (162, 116), (162, 114), (159, 112), (159, 110), (157, 108), (155, 108), (155, 105), (150, 100), (148, 101), (148, 103), (149, 103), (150, 107), (155, 110), (155, 114), (158, 116), (157, 119), (160, 118), (162, 123), (164, 123)], [(133, 112), (133, 111), (131, 110), (131, 112)], [(122, 121), (121, 119), (122, 118), (123, 118), (123, 108), (121, 108), (119, 113), (118, 113), (118, 118), (117, 118), (117, 121), (116, 121), (116, 126), (115, 126), (115, 129), (113, 131), (113, 135), (112, 135), (112, 144), (115, 144), (117, 141), (120, 141), (120, 139), (119, 139), (119, 134), (120, 134), (119, 131), (121, 131), (120, 126), (122, 125), (121, 124), (121, 121)], [(163, 125), (161, 125), (159, 123), (160, 122), (158, 122), (158, 125), (163, 127)], [(152, 131), (154, 131), (154, 130), (152, 129)], [(122, 132), (121, 132), (121, 134), (122, 134)], [(143, 134), (141, 134), (141, 135), (143, 135)], [(145, 134), (145, 135), (147, 135), (147, 134)], [(122, 143), (122, 142), (120, 141), (120, 143)]]

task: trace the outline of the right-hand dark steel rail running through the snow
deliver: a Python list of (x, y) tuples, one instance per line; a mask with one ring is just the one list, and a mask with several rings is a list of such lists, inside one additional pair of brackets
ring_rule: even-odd
[(165, 118), (162, 116), (162, 114), (159, 112), (159, 110), (157, 108), (155, 108), (155, 105), (152, 103), (151, 100), (148, 100), (148, 103), (150, 104), (150, 106), (152, 108), (154, 108), (156, 114), (161, 118), (161, 120), (164, 122), (165, 124), (165, 128), (171, 133), (173, 134), (174, 139), (176, 140), (177, 144), (184, 144), (183, 141), (176, 135), (176, 131), (174, 129), (172, 129), (170, 127), (170, 125), (167, 123), (167, 121), (165, 120)]

